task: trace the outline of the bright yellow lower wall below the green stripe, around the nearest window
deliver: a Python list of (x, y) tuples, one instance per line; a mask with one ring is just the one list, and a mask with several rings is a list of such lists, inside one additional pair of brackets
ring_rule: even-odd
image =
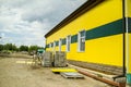
[(78, 52), (78, 45), (71, 45), (68, 59), (122, 66), (122, 34), (87, 40), (85, 52)]

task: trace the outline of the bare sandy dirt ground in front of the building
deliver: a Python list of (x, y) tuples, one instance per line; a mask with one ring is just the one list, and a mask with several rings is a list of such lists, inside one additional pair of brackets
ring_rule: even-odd
[(50, 67), (34, 69), (26, 63), (28, 61), (32, 59), (0, 57), (0, 87), (110, 87), (87, 76), (84, 79), (63, 78)]

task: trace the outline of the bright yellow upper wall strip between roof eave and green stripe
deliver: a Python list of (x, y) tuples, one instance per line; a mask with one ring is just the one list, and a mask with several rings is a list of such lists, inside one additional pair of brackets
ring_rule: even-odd
[[(115, 5), (117, 4), (117, 5)], [(47, 44), (68, 35), (78, 34), (82, 29), (92, 29), (122, 17), (122, 0), (105, 0), (57, 33), (48, 37)]]

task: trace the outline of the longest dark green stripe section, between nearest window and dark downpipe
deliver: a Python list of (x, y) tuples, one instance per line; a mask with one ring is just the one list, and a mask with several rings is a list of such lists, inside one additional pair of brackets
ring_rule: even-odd
[(86, 30), (86, 40), (117, 35), (123, 33), (122, 20), (111, 22), (109, 24)]

